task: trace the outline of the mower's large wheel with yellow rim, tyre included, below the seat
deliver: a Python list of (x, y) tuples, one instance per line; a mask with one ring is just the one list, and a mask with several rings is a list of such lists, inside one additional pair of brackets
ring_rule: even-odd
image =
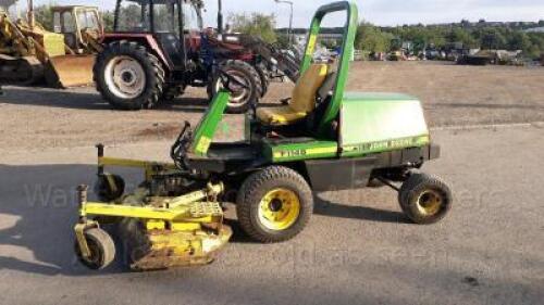
[(250, 175), (236, 199), (244, 231), (263, 242), (281, 242), (300, 233), (313, 212), (313, 195), (297, 171), (270, 166)]

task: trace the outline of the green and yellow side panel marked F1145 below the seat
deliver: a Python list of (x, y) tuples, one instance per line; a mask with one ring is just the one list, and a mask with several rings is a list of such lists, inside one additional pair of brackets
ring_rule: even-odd
[(331, 158), (338, 155), (335, 141), (308, 141), (302, 143), (272, 143), (264, 140), (264, 156), (272, 163)]

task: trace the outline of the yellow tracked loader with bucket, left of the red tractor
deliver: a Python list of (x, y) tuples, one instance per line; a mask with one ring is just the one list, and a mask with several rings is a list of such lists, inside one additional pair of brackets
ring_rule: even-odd
[(95, 54), (103, 24), (95, 7), (54, 7), (53, 31), (35, 21), (28, 1), (26, 21), (0, 11), (0, 82), (69, 88), (92, 84)]

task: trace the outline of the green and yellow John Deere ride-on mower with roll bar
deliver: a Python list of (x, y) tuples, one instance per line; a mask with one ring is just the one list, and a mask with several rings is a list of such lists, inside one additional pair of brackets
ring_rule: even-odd
[[(337, 66), (314, 63), (321, 21), (341, 11), (347, 23)], [(388, 186), (413, 223), (441, 220), (452, 207), (452, 193), (438, 178), (417, 170), (440, 155), (421, 103), (404, 94), (345, 92), (357, 13), (347, 1), (318, 10), (290, 101), (247, 114), (244, 140), (213, 141), (230, 88), (243, 86), (223, 74), (225, 89), (198, 126), (186, 123), (172, 147), (173, 163), (110, 158), (99, 145), (96, 193), (102, 202), (89, 202), (87, 187), (78, 188), (79, 260), (92, 269), (113, 260), (115, 244), (101, 226), (115, 224), (132, 269), (208, 264), (232, 236), (223, 221), (226, 193), (236, 193), (242, 229), (263, 243), (300, 233), (312, 215), (312, 194), (321, 191)], [(124, 194), (123, 179), (107, 174), (107, 166), (143, 168), (145, 180)]]

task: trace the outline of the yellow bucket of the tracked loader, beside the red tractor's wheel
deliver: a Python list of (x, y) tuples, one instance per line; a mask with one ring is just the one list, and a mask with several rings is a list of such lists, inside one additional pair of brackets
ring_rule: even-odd
[(51, 58), (46, 66), (46, 81), (53, 88), (92, 85), (96, 55), (64, 55)]

